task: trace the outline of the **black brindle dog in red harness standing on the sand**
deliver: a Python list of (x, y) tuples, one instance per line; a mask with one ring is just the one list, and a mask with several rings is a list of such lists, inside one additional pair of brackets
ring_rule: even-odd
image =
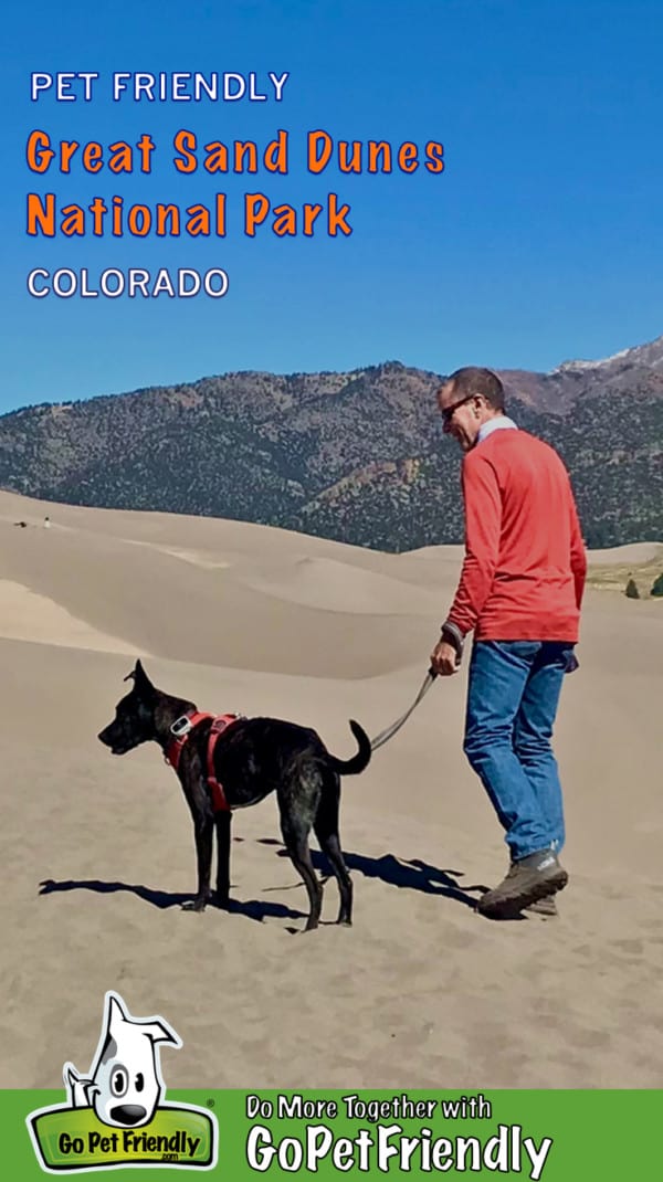
[[(196, 707), (171, 697), (152, 686), (143, 665), (124, 678), (134, 687), (116, 707), (115, 719), (99, 739), (113, 755), (124, 755), (142, 742), (152, 740), (167, 752), (174, 741), (173, 723)], [(204, 910), (213, 900), (228, 904), (230, 890), (230, 811), (215, 811), (207, 780), (207, 746), (210, 720), (195, 726), (182, 748), (177, 775), (194, 821), (197, 860), (197, 890), (194, 911)], [(214, 772), (223, 786), (229, 808), (246, 808), (277, 793), (284, 842), (308, 892), (310, 914), (306, 931), (318, 927), (323, 885), (311, 862), (308, 834), (314, 830), (326, 853), (340, 892), (338, 923), (352, 922), (352, 882), (343, 859), (338, 837), (340, 775), (363, 772), (371, 758), (371, 743), (358, 722), (350, 722), (358, 752), (343, 761), (332, 755), (316, 730), (280, 719), (239, 719), (222, 732), (214, 749)], [(213, 832), (216, 830), (216, 892), (210, 892)]]

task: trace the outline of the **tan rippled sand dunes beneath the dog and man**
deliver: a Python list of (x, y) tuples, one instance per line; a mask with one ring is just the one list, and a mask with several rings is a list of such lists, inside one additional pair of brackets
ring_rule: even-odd
[(461, 673), (346, 779), (355, 926), (334, 926), (332, 881), (301, 935), (274, 799), (235, 817), (233, 911), (188, 914), (177, 780), (156, 746), (113, 759), (97, 732), (141, 655), (203, 709), (307, 723), (347, 756), (349, 717), (375, 735), (418, 689), (459, 547), (388, 556), (8, 493), (0, 535), (1, 1086), (85, 1071), (108, 988), (182, 1037), (162, 1057), (173, 1087), (661, 1086), (662, 603), (587, 593), (557, 728), (559, 918), (474, 910), (506, 847), (462, 755)]

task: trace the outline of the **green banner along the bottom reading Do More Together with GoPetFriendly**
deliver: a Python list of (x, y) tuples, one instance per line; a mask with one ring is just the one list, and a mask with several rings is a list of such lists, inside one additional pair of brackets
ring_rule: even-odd
[(661, 1171), (659, 1091), (169, 1090), (149, 1125), (134, 1130), (65, 1108), (61, 1090), (0, 1092), (0, 1105), (2, 1175), (17, 1182), (109, 1168), (122, 1182), (173, 1182), (182, 1169), (232, 1182), (401, 1174), (639, 1182)]

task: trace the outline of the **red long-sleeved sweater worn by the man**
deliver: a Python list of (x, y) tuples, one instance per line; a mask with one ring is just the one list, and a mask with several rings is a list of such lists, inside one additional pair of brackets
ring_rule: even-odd
[(462, 489), (466, 558), (449, 623), (480, 641), (577, 641), (586, 558), (557, 452), (494, 430), (466, 454)]

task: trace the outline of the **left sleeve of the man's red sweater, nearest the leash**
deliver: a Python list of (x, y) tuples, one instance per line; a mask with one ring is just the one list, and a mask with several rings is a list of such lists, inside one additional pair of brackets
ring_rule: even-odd
[(476, 624), (486, 603), (498, 565), (502, 526), (502, 499), (495, 469), (481, 452), (470, 452), (463, 461), (466, 556), (461, 578), (447, 623), (464, 636)]

